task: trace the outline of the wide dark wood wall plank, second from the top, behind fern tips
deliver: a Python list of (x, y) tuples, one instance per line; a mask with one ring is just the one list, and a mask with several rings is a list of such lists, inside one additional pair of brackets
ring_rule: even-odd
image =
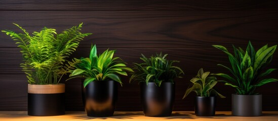
[[(278, 11), (0, 11), (0, 30), (30, 33), (43, 26), (62, 31), (84, 22), (93, 33), (80, 47), (211, 47), (212, 44), (255, 47), (277, 44)], [(0, 32), (0, 47), (16, 47)]]

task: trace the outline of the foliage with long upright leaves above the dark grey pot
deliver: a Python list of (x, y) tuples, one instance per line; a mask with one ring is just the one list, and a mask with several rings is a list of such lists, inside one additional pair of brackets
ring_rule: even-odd
[(276, 50), (277, 45), (268, 47), (266, 44), (258, 51), (255, 51), (254, 47), (249, 41), (246, 51), (244, 51), (241, 47), (236, 48), (233, 46), (234, 55), (232, 55), (224, 46), (213, 46), (222, 50), (228, 55), (231, 68), (220, 64), (218, 64), (218, 66), (227, 69), (233, 77), (223, 73), (214, 75), (225, 78), (227, 81), (221, 82), (224, 82), (225, 85), (234, 87), (236, 89), (236, 94), (257, 94), (255, 92), (257, 87), (270, 82), (278, 81), (277, 79), (273, 78), (262, 79), (264, 76), (276, 70), (268, 69), (264, 71), (265, 67), (272, 61), (273, 53)]

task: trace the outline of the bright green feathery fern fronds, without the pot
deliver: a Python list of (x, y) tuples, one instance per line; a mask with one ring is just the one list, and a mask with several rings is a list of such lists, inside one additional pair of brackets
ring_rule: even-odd
[[(81, 40), (91, 33), (81, 33), (82, 23), (57, 34), (55, 29), (44, 27), (31, 35), (14, 23), (23, 33), (3, 30), (16, 41), (21, 48), (23, 63), (20, 66), (26, 74), (29, 84), (58, 84), (69, 69), (77, 63), (66, 58), (75, 51)], [(67, 64), (64, 64), (67, 63)]]

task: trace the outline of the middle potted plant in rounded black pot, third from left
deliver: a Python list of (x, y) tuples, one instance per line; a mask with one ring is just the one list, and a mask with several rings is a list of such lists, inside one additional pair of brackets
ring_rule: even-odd
[(167, 54), (145, 57), (144, 63), (134, 63), (131, 81), (140, 82), (141, 103), (146, 116), (170, 116), (175, 99), (174, 78), (184, 74), (179, 67), (173, 66), (178, 61), (168, 61)]

